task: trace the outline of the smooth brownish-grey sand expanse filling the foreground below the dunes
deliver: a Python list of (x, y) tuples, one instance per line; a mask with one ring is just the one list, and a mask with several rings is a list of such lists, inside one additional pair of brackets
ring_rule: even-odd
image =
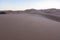
[(3, 14), (0, 40), (60, 40), (60, 22), (34, 14)]

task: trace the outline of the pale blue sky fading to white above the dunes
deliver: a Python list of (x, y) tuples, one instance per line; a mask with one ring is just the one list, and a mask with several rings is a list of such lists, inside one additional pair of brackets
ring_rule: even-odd
[(60, 0), (0, 0), (0, 10), (59, 8)]

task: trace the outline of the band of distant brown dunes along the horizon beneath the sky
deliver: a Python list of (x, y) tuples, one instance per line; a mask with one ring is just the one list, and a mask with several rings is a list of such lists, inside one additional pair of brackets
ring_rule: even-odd
[(60, 9), (51, 8), (51, 9), (42, 9), (42, 10), (36, 10), (36, 9), (27, 9), (24, 11), (4, 11), (5, 13), (0, 14), (39, 14), (42, 15), (48, 19), (60, 22)]

